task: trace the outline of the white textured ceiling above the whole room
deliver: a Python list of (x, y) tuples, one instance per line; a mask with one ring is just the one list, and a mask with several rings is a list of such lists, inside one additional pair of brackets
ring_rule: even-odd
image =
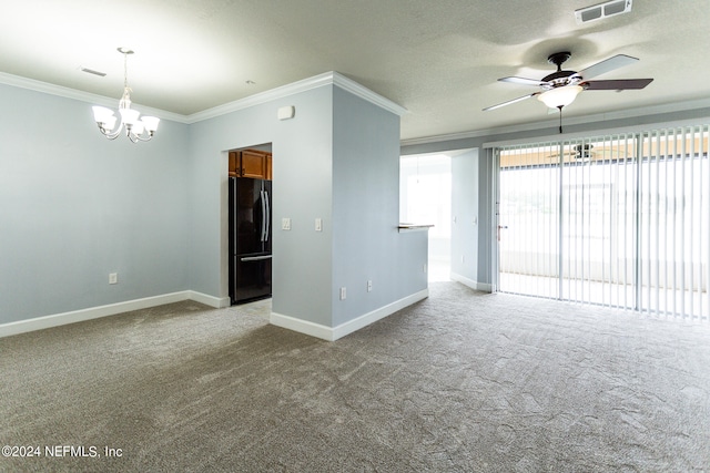
[(481, 109), (535, 92), (496, 80), (541, 79), (560, 50), (577, 71), (615, 54), (640, 59), (596, 79), (655, 78), (641, 91), (586, 91), (568, 117), (710, 97), (707, 0), (636, 0), (630, 13), (581, 25), (574, 11), (595, 0), (4, 3), (0, 72), (118, 101), (115, 49), (128, 47), (133, 101), (183, 115), (337, 71), (409, 111), (405, 140), (549, 121), (537, 100)]

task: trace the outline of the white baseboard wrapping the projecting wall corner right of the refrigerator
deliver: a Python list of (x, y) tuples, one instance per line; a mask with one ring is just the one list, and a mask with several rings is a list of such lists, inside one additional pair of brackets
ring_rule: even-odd
[(356, 319), (349, 320), (345, 323), (341, 323), (337, 327), (326, 327), (320, 323), (310, 322), (307, 320), (296, 319), (291, 316), (284, 316), (282, 313), (272, 312), (270, 322), (277, 327), (283, 327), (288, 330), (305, 333), (311, 337), (316, 337), (327, 341), (335, 341), (338, 338), (343, 338), (346, 335), (353, 333), (363, 327), (367, 327), (377, 320), (384, 319), (387, 316), (393, 315), (397, 310), (402, 310), (407, 306), (418, 302), (422, 299), (426, 299), (429, 296), (429, 290), (424, 289), (407, 296), (403, 299), (396, 300), (392, 304), (375, 309), (372, 312), (364, 313)]

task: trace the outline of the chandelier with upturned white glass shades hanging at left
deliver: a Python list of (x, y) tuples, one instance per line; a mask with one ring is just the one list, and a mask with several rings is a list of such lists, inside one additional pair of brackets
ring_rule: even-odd
[[(153, 137), (155, 130), (158, 130), (158, 122), (160, 119), (155, 116), (143, 116), (139, 119), (141, 113), (138, 110), (131, 109), (131, 88), (129, 88), (129, 74), (128, 74), (128, 58), (129, 54), (133, 54), (133, 51), (125, 48), (118, 48), (118, 51), (123, 54), (123, 96), (119, 101), (119, 114), (121, 115), (121, 122), (115, 125), (116, 116), (111, 109), (105, 106), (94, 105), (93, 117), (99, 125), (99, 131), (109, 140), (115, 140), (122, 131), (125, 131), (125, 136), (133, 143), (139, 141), (146, 142)], [(114, 130), (115, 127), (115, 130)]]

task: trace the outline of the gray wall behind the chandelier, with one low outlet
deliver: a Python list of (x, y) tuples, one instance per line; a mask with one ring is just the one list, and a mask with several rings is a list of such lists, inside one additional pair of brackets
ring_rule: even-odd
[(111, 142), (89, 103), (0, 103), (0, 323), (189, 289), (186, 125)]

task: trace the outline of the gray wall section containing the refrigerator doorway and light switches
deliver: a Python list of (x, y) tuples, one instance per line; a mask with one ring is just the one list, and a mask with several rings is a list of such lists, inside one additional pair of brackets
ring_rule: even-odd
[[(273, 310), (329, 325), (333, 86), (191, 125), (190, 286), (227, 297), (227, 150), (272, 143)], [(281, 106), (295, 117), (278, 121)], [(314, 219), (324, 220), (314, 232)], [(291, 230), (281, 229), (291, 218)], [(317, 290), (312, 290), (312, 289)]]

